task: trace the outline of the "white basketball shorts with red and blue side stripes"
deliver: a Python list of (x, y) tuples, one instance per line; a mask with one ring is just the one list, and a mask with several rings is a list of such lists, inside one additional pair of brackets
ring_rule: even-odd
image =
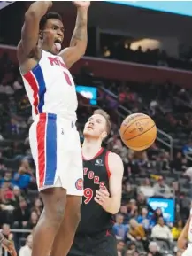
[(83, 167), (79, 132), (70, 120), (55, 114), (38, 115), (29, 130), (38, 190), (61, 187), (82, 196)]

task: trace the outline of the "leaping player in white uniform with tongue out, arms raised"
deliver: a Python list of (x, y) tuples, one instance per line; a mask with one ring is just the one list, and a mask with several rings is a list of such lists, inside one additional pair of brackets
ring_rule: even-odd
[(29, 141), (44, 205), (33, 234), (32, 256), (48, 256), (61, 233), (65, 256), (81, 216), (83, 169), (75, 127), (77, 97), (68, 68), (85, 53), (90, 3), (73, 4), (77, 19), (69, 48), (61, 50), (61, 17), (47, 13), (52, 2), (38, 1), (25, 14), (17, 50), (20, 73), (32, 105), (34, 123)]

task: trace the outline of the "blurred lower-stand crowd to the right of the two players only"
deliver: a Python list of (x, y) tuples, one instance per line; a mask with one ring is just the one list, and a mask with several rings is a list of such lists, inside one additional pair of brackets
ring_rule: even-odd
[[(180, 256), (176, 241), (188, 219), (192, 195), (191, 90), (169, 81), (159, 86), (106, 81), (95, 78), (88, 63), (76, 79), (97, 86), (98, 105), (112, 120), (105, 146), (124, 162), (122, 206), (114, 225), (119, 256)], [(127, 114), (125, 109), (149, 114), (158, 128), (173, 137), (173, 151), (158, 142), (148, 151), (128, 150), (119, 136), (119, 115)], [(175, 221), (165, 218), (164, 209), (152, 208), (149, 198), (173, 198)]]

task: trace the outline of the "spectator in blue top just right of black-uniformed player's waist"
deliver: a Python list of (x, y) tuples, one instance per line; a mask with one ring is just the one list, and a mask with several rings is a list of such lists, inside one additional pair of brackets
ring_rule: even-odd
[(113, 231), (118, 240), (124, 240), (127, 233), (127, 225), (123, 224), (124, 216), (122, 214), (116, 215), (116, 222), (113, 226)]

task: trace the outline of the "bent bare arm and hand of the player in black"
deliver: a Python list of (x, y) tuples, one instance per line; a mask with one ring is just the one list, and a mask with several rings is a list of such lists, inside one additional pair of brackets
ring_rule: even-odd
[(96, 191), (95, 200), (106, 212), (116, 214), (119, 212), (121, 203), (124, 167), (122, 159), (115, 153), (109, 154), (108, 164), (111, 172), (110, 193), (101, 188)]

